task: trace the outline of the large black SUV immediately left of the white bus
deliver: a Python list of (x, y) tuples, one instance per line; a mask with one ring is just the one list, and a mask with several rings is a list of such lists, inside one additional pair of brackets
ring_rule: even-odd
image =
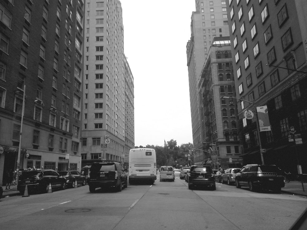
[(87, 175), (87, 183), (91, 193), (96, 188), (115, 188), (122, 191), (128, 185), (128, 175), (120, 163), (95, 162)]

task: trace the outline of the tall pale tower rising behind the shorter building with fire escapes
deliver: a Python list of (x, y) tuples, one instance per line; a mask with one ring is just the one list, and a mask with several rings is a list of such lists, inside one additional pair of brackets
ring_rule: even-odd
[[(192, 136), (195, 163), (206, 158), (208, 139), (204, 125), (203, 100), (200, 93), (201, 73), (212, 40), (229, 36), (226, 1), (196, 0), (196, 11), (191, 16), (191, 38), (187, 43), (187, 66), (189, 77)], [(211, 140), (211, 143), (215, 140)]]

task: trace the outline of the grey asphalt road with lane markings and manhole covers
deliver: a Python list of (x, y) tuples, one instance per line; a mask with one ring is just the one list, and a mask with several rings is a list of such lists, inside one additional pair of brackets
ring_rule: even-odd
[(216, 183), (188, 190), (187, 183), (128, 185), (122, 192), (88, 186), (0, 200), (1, 229), (289, 229), (307, 207), (305, 197)]

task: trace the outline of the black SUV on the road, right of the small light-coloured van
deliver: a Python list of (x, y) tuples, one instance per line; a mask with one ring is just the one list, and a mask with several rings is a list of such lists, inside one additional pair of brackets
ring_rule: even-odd
[(192, 189), (193, 186), (208, 186), (216, 190), (214, 174), (210, 166), (193, 165), (187, 176), (189, 189)]

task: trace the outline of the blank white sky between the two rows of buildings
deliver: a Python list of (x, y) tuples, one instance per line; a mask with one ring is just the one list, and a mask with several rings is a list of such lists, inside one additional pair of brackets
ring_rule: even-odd
[(186, 44), (194, 0), (120, 0), (134, 77), (135, 146), (192, 141)]

